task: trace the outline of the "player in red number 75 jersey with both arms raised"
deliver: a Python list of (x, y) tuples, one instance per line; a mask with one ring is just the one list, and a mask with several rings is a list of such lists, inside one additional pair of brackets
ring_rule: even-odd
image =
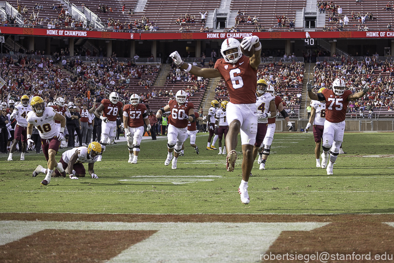
[[(321, 154), (321, 168), (326, 168), (327, 175), (333, 174), (334, 162), (336, 161), (339, 148), (343, 141), (345, 132), (346, 109), (350, 101), (362, 98), (368, 91), (369, 85), (364, 87), (357, 93), (345, 90), (346, 84), (342, 79), (336, 79), (333, 82), (333, 89), (324, 89), (321, 93), (314, 93), (312, 89), (312, 81), (307, 84), (308, 96), (311, 100), (323, 102), (325, 101), (325, 121), (323, 131), (323, 153)], [(330, 162), (327, 165), (329, 160)]]

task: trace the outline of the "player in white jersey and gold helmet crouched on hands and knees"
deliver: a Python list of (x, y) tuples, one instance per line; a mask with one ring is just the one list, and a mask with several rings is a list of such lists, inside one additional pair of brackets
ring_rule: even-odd
[[(68, 170), (70, 179), (78, 179), (78, 177), (85, 177), (86, 170), (83, 163), (88, 163), (89, 175), (97, 179), (97, 175), (94, 173), (94, 162), (97, 161), (97, 157), (101, 154), (101, 145), (97, 142), (91, 142), (87, 147), (82, 146), (73, 148), (71, 150), (63, 152), (59, 164), (63, 170)], [(33, 176), (36, 176), (43, 172), (43, 167), (38, 166)], [(55, 174), (60, 176), (61, 174), (55, 170)], [(65, 177), (65, 173), (64, 173)]]

